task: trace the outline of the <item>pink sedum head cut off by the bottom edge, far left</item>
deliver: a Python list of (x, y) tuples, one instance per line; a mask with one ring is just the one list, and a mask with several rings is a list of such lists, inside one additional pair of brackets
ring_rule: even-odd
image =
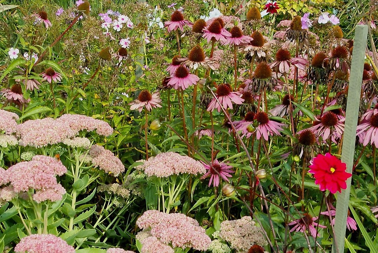
[(31, 234), (23, 237), (14, 248), (15, 253), (75, 253), (62, 238), (53, 234)]

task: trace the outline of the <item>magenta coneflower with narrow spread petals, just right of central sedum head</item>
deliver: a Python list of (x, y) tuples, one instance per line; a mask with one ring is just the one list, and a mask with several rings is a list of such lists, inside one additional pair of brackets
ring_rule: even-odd
[(227, 177), (232, 177), (230, 173), (234, 173), (233, 170), (230, 170), (232, 166), (229, 166), (224, 162), (218, 162), (217, 159), (215, 159), (211, 165), (205, 164), (204, 162), (202, 163), (208, 171), (201, 177), (201, 179), (210, 176), (209, 186), (212, 183), (214, 187), (217, 187), (220, 181), (219, 176), (226, 182), (229, 182)]

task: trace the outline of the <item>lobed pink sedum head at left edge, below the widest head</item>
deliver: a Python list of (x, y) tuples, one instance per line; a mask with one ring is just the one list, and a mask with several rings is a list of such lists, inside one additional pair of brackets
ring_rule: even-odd
[(15, 193), (34, 189), (36, 192), (33, 199), (38, 203), (45, 200), (60, 200), (66, 192), (57, 183), (56, 175), (63, 175), (67, 172), (67, 168), (61, 161), (50, 156), (37, 155), (31, 161), (19, 162), (0, 172), (2, 174), (0, 184), (10, 183), (9, 187), (12, 187)]

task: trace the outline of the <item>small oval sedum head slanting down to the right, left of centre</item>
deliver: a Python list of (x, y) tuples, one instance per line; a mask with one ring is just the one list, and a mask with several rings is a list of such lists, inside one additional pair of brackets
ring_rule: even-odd
[(89, 156), (93, 166), (99, 167), (99, 169), (104, 170), (106, 173), (112, 173), (114, 176), (118, 176), (119, 173), (125, 171), (125, 166), (122, 164), (122, 161), (119, 160), (112, 151), (100, 145), (92, 145), (89, 150)]

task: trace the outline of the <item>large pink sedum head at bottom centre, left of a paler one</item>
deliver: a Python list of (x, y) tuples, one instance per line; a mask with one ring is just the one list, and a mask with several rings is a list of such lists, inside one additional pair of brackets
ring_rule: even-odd
[(174, 248), (189, 247), (206, 251), (211, 243), (210, 237), (206, 235), (206, 231), (198, 224), (197, 220), (187, 217), (185, 214), (167, 214), (149, 210), (138, 218), (136, 225), (144, 229), (141, 233), (145, 234), (147, 231), (149, 234), (148, 237), (144, 236), (145, 238), (141, 240), (142, 244), (149, 242), (148, 240), (151, 240), (151, 238), (148, 239), (149, 237), (156, 237), (161, 243), (172, 245)]

